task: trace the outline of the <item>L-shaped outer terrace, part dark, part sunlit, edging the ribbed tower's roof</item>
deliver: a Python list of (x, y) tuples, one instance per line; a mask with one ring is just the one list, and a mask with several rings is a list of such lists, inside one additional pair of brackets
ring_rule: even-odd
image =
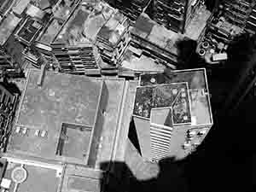
[[(154, 79), (154, 83), (150, 79)], [(142, 86), (152, 84), (171, 84), (188, 82), (189, 98), (191, 101), (191, 117), (196, 119), (196, 125), (212, 124), (212, 113), (209, 101), (209, 90), (205, 69), (174, 71), (168, 77), (158, 74), (144, 74), (141, 76)]]

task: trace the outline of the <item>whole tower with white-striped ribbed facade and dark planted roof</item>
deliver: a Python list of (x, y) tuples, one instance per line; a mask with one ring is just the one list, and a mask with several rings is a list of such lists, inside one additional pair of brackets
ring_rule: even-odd
[(205, 69), (141, 75), (133, 115), (144, 159), (182, 159), (212, 126)]

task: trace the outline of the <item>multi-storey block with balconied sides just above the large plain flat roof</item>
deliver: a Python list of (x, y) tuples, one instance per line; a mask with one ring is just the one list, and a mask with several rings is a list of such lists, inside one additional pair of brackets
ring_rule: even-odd
[[(108, 3), (80, 1), (51, 42), (62, 71), (86, 73), (98, 68), (115, 69), (130, 40), (128, 24), (127, 18)], [(70, 55), (64, 59), (66, 63), (63, 55)]]

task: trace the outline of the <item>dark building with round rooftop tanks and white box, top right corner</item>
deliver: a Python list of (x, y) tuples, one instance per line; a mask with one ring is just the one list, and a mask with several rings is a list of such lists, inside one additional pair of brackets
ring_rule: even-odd
[(228, 60), (227, 49), (234, 38), (243, 33), (252, 34), (255, 1), (221, 0), (208, 20), (205, 35), (198, 44), (197, 52), (208, 64)]

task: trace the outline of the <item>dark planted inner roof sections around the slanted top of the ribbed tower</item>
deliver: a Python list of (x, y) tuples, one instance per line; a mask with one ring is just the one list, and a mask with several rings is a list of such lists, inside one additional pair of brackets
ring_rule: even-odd
[[(154, 116), (151, 113), (155, 108), (172, 108), (173, 125), (190, 123), (188, 84), (172, 83), (138, 87), (133, 114), (153, 120)], [(158, 113), (161, 112), (165, 113), (158, 110)]]

